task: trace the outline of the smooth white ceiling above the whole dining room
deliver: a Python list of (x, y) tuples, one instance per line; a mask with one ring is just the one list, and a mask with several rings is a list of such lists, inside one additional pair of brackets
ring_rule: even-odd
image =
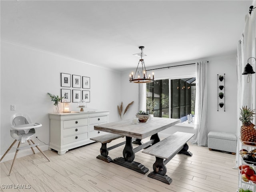
[(114, 70), (236, 54), (252, 0), (1, 0), (1, 40)]

